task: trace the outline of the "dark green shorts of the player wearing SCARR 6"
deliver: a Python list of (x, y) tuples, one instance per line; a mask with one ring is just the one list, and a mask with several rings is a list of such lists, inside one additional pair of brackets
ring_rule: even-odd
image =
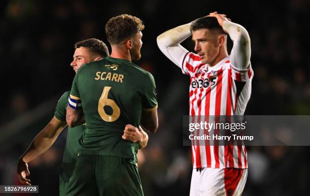
[(105, 155), (77, 157), (65, 195), (142, 196), (137, 166), (131, 159)]

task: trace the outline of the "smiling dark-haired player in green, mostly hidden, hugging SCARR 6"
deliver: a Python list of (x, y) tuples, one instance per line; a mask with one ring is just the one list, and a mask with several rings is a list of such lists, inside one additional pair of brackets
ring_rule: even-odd
[[(74, 45), (75, 51), (71, 67), (77, 73), (79, 68), (88, 62), (100, 60), (109, 55), (106, 45), (97, 39), (88, 39), (78, 42)], [(69, 97), (69, 91), (66, 91), (58, 101), (55, 115), (47, 126), (35, 137), (28, 150), (20, 157), (18, 161), (17, 173), (20, 182), (23, 185), (30, 185), (30, 180), (26, 179), (29, 175), (27, 163), (45, 152), (57, 139), (61, 131), (66, 127), (66, 107)], [(69, 179), (72, 177), (75, 168), (76, 158), (80, 148), (80, 139), (83, 135), (85, 125), (68, 128), (66, 146), (63, 155), (62, 168), (59, 178), (59, 194), (67, 195), (66, 189)], [(142, 132), (140, 132), (142, 131)], [(124, 130), (123, 139), (130, 142), (138, 142), (139, 147), (143, 148), (147, 144), (148, 136), (140, 128), (140, 131), (127, 125)], [(126, 137), (130, 133), (134, 137)]]

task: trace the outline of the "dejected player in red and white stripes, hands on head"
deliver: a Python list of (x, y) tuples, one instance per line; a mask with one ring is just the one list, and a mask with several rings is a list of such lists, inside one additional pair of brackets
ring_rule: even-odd
[[(234, 42), (230, 55), (227, 34)], [(180, 45), (190, 35), (197, 54)], [(164, 32), (157, 42), (183, 74), (190, 76), (191, 116), (244, 114), (251, 95), (253, 70), (250, 38), (243, 26), (213, 12)], [(191, 149), (191, 196), (242, 194), (248, 168), (245, 146), (193, 144)]]

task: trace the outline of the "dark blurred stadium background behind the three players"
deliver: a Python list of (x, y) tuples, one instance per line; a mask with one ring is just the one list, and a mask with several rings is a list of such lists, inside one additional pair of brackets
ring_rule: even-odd
[[(73, 44), (97, 38), (108, 45), (105, 23), (128, 13), (145, 23), (142, 58), (136, 63), (153, 74), (159, 100), (160, 127), (149, 134), (139, 161), (144, 193), (188, 195), (191, 154), (190, 147), (182, 146), (180, 122), (188, 114), (189, 78), (160, 52), (156, 37), (212, 11), (227, 14), (251, 37), (255, 75), (246, 114), (308, 115), (309, 5), (308, 0), (1, 1), (0, 184), (17, 184), (18, 157), (52, 118), (61, 94), (70, 89)], [(190, 40), (184, 46), (193, 51)], [(58, 194), (65, 134), (29, 164), (30, 179), (40, 186), (40, 195)], [(309, 147), (249, 147), (243, 195), (307, 194), (309, 155)]]

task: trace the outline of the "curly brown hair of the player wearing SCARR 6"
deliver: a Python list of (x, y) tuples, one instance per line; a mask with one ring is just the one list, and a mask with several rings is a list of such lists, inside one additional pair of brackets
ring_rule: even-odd
[(109, 19), (105, 25), (105, 34), (110, 44), (120, 44), (143, 29), (142, 20), (135, 16), (122, 14)]

